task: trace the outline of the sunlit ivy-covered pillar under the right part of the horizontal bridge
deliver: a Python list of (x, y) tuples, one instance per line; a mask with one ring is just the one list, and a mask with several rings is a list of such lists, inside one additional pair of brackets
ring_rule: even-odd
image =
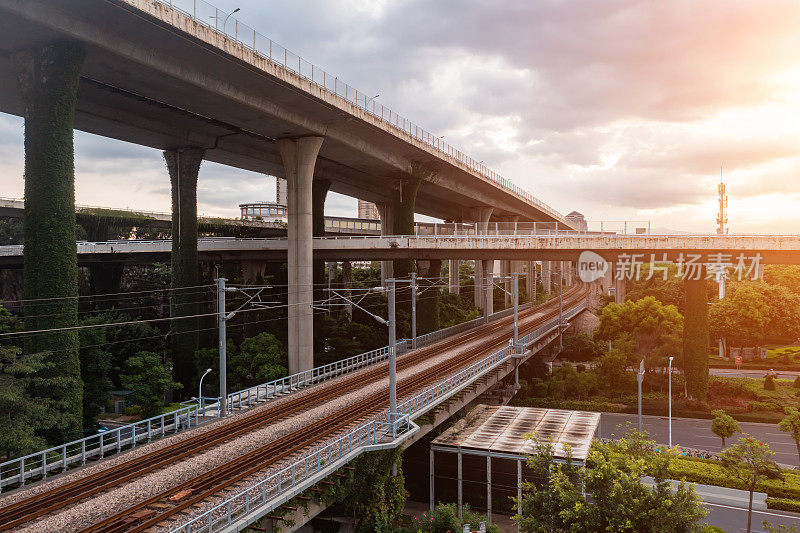
[[(703, 273), (704, 274), (704, 273)], [(690, 398), (705, 400), (708, 392), (708, 287), (705, 276), (683, 283), (685, 314), (683, 321), (683, 374)]]

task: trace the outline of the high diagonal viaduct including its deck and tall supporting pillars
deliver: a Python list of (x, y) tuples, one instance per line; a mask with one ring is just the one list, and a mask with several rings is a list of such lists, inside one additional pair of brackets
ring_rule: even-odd
[[(189, 0), (0, 0), (0, 111), (25, 118), (26, 221), (65, 229), (26, 236), (27, 299), (75, 296), (71, 279), (44, 279), (76, 277), (66, 242), (74, 214), (65, 209), (74, 204), (73, 127), (164, 151), (178, 229), (175, 287), (198, 282), (203, 160), (288, 180), (292, 371), (312, 365), (313, 310), (300, 303), (312, 299), (311, 238), (323, 234), (328, 190), (378, 204), (387, 233), (413, 233), (415, 212), (571, 227), (482, 162), (229, 15)], [(398, 266), (403, 277), (409, 265)], [(37, 328), (74, 321), (58, 311), (29, 310), (26, 320)], [(173, 311), (195, 309), (176, 302)], [(173, 326), (175, 368), (185, 378), (196, 324)]]

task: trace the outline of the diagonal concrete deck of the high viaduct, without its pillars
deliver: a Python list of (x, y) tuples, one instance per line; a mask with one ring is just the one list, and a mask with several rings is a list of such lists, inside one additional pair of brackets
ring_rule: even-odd
[(208, 160), (279, 177), (277, 140), (320, 136), (315, 177), (335, 192), (391, 202), (414, 163), (436, 174), (420, 187), (417, 212), (460, 220), (488, 202), (495, 217), (570, 227), (482, 162), (227, 16), (192, 0), (0, 0), (0, 111), (23, 114), (16, 52), (77, 42), (88, 52), (77, 129), (162, 150), (201, 147)]

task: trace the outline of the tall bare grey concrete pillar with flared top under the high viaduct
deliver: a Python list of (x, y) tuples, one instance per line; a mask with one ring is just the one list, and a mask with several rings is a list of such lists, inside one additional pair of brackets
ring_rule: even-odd
[(287, 274), (289, 283), (289, 373), (314, 366), (314, 244), (312, 181), (322, 137), (279, 139), (289, 185)]

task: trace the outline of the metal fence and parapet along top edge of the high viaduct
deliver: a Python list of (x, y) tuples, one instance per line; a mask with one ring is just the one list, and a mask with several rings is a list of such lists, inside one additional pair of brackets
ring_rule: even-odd
[[(137, 0), (125, 1), (134, 7), (144, 9), (144, 7), (138, 5), (140, 2)], [(462, 166), (494, 182), (500, 188), (518, 195), (529, 203), (541, 208), (542, 211), (553, 218), (568, 224), (561, 213), (539, 200), (522, 187), (489, 169), (482, 161), (477, 161), (466, 155), (461, 150), (445, 142), (441, 137), (426, 131), (383, 104), (377, 103), (374, 96), (368, 96), (358, 91), (349, 84), (341, 81), (338, 76), (328, 74), (313, 63), (306, 61), (299, 55), (292, 53), (285, 47), (260, 34), (250, 26), (243, 24), (239, 19), (233, 16), (233, 13), (217, 9), (204, 0), (152, 0), (152, 3), (169, 7), (188, 18), (197, 26), (213, 31), (216, 34), (224, 35), (229, 40), (232, 40), (233, 46), (230, 47), (225, 46), (222, 48), (217, 44), (217, 46), (225, 51), (230, 53), (230, 50), (236, 46), (249, 50), (272, 65), (282, 67), (284, 70), (297, 75), (301, 79), (309, 82), (316, 89), (331, 96), (341, 98), (345, 102), (354, 105), (356, 109), (365, 112), (372, 119), (376, 119), (388, 126), (389, 129), (394, 130), (395, 135), (402, 133), (403, 135), (411, 137), (413, 140), (424, 143), (428, 147), (436, 150), (439, 153), (439, 157), (442, 159), (456, 166)], [(174, 16), (169, 18), (163, 17), (163, 20), (175, 27), (181, 28), (183, 31), (187, 31), (186, 28), (176, 23), (175, 18)], [(341, 107), (344, 110), (348, 110), (346, 106)]]

